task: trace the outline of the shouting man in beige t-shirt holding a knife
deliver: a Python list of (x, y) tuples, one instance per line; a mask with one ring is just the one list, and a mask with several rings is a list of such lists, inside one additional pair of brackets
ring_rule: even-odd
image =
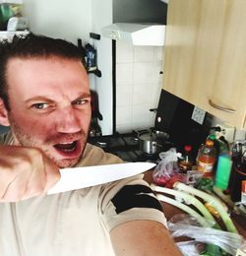
[(75, 45), (32, 33), (1, 43), (1, 256), (180, 255), (142, 175), (45, 194), (59, 167), (121, 162), (87, 144), (90, 121)]

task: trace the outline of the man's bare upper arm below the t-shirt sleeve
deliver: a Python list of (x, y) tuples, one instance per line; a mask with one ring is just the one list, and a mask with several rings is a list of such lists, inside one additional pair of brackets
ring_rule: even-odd
[(110, 232), (117, 256), (182, 255), (166, 227), (154, 221), (132, 221), (119, 224)]

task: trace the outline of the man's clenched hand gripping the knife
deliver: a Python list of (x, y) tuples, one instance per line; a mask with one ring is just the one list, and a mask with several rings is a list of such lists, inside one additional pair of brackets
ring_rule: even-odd
[(57, 165), (38, 149), (0, 146), (0, 202), (40, 195), (59, 178)]

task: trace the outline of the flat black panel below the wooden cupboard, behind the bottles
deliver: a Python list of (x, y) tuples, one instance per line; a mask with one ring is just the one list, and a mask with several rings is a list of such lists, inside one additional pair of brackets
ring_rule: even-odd
[(169, 140), (178, 152), (182, 152), (185, 145), (191, 145), (192, 157), (195, 160), (199, 147), (210, 134), (213, 116), (206, 113), (201, 125), (191, 119), (194, 107), (182, 98), (161, 90), (154, 127), (169, 134)]

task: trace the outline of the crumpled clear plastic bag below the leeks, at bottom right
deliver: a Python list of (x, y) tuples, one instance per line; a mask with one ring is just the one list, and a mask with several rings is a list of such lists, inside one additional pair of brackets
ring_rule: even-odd
[(235, 255), (244, 242), (240, 234), (201, 227), (194, 218), (185, 214), (175, 215), (167, 224), (173, 237), (188, 236), (199, 242), (215, 244), (231, 255)]

